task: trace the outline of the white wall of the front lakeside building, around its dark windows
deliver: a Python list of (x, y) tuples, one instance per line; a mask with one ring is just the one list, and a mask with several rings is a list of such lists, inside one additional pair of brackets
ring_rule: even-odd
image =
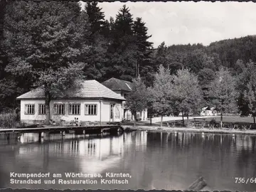
[[(100, 110), (101, 102), (101, 110)], [(46, 114), (38, 114), (39, 104), (44, 104), (44, 100), (21, 100), (21, 121), (22, 122), (33, 122), (46, 119)], [(25, 114), (25, 105), (34, 104), (35, 114)], [(53, 114), (54, 104), (65, 104), (65, 115)], [(68, 114), (69, 104), (80, 104), (80, 114)], [(87, 115), (85, 114), (85, 104), (96, 104), (97, 114)], [(78, 118), (79, 121), (110, 121), (110, 104), (122, 104), (122, 101), (111, 101), (111, 100), (52, 100), (50, 101), (50, 119), (63, 119), (66, 121), (75, 120)], [(122, 116), (122, 110), (120, 110), (120, 116)], [(101, 118), (100, 118), (101, 116)], [(122, 119), (114, 119), (114, 121), (119, 122)]]

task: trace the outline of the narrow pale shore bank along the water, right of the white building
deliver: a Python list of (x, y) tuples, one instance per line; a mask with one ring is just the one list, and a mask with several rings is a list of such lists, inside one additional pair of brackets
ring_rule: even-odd
[(211, 133), (211, 134), (249, 134), (256, 135), (256, 129), (253, 130), (228, 130), (228, 129), (198, 129), (192, 127), (156, 127), (156, 126), (137, 126), (123, 125), (125, 129), (129, 128), (134, 131), (148, 131), (148, 132), (196, 132), (196, 133)]

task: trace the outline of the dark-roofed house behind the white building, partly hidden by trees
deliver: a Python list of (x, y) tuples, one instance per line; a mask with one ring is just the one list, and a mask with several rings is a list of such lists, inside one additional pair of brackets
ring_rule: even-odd
[[(110, 90), (116, 92), (121, 97), (124, 97), (124, 99), (129, 95), (129, 92), (132, 91), (132, 82), (129, 82), (127, 80), (119, 80), (117, 78), (110, 78), (109, 80), (106, 80), (105, 82), (102, 82), (102, 85), (105, 85)], [(134, 119), (132, 112), (130, 112), (125, 107), (125, 101), (122, 103), (122, 118), (123, 119)], [(137, 119), (146, 120), (147, 119), (147, 111), (144, 110), (142, 114), (137, 112)]]

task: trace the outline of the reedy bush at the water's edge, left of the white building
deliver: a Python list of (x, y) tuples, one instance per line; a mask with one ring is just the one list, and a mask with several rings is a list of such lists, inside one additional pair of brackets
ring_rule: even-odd
[(16, 111), (0, 114), (0, 129), (16, 127), (19, 121), (18, 115)]

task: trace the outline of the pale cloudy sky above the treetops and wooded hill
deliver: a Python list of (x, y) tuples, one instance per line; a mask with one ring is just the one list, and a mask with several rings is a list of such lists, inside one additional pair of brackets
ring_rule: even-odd
[[(81, 2), (82, 3), (82, 2)], [(256, 35), (256, 3), (253, 2), (131, 2), (99, 3), (105, 19), (116, 16), (126, 4), (133, 18), (142, 17), (154, 48), (163, 41), (174, 44), (203, 43)], [(84, 3), (82, 3), (82, 8)]]

